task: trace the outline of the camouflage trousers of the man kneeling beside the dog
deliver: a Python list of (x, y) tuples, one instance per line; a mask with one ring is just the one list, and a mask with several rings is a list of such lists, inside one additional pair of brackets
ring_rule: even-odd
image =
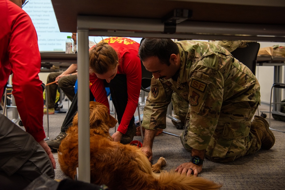
[[(251, 119), (258, 107), (258, 102), (251, 106), (248, 106), (248, 103), (241, 102), (223, 107), (224, 109), (221, 109), (217, 127), (207, 146), (205, 156), (213, 162), (230, 162), (258, 151), (261, 142), (259, 138), (256, 138), (258, 136), (257, 132), (250, 129)], [(240, 117), (238, 113), (248, 113), (248, 115)], [(233, 122), (233, 119), (235, 122)], [(189, 120), (188, 113), (180, 139), (184, 148), (191, 152), (192, 148), (187, 144)], [(240, 127), (241, 122), (243, 123), (242, 127)], [(239, 123), (238, 128), (235, 127), (237, 123)]]

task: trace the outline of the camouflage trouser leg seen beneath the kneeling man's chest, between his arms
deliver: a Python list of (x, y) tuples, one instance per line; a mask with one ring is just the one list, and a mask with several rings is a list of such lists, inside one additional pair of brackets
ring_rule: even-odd
[(176, 92), (172, 93), (171, 102), (173, 105), (173, 112), (175, 115), (180, 117), (186, 117), (189, 110), (189, 103), (185, 101), (181, 96)]

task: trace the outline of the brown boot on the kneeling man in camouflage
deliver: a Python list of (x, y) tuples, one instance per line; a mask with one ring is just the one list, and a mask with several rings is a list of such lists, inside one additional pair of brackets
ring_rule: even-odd
[(255, 129), (261, 141), (261, 148), (269, 150), (275, 143), (275, 137), (269, 129), (268, 122), (260, 116), (254, 116), (250, 129)]

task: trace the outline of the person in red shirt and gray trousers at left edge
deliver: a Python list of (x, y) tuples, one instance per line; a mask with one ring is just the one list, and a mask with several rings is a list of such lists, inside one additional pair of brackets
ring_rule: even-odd
[(23, 189), (44, 173), (54, 178), (55, 160), (44, 140), (37, 33), (21, 9), (27, 1), (11, 1), (0, 0), (0, 95), (13, 73), (12, 93), (26, 132), (0, 114), (0, 187)]

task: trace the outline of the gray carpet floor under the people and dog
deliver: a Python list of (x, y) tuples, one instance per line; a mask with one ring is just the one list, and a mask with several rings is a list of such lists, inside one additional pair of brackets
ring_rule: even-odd
[[(68, 110), (68, 103), (63, 101), (61, 111)], [(268, 106), (260, 106), (260, 110), (269, 110)], [(137, 113), (136, 113), (137, 114)], [(49, 115), (49, 137), (55, 138), (60, 132), (60, 126), (66, 114), (56, 113)], [(268, 115), (268, 114), (267, 114)], [(8, 114), (11, 118), (11, 110)], [(113, 115), (114, 116), (114, 115)], [(266, 118), (268, 120), (268, 116)], [(44, 127), (47, 132), (46, 117)], [(285, 130), (285, 123), (272, 119), (271, 127)], [(118, 124), (117, 124), (118, 125)], [(177, 130), (170, 119), (167, 118), (167, 128), (164, 130), (180, 135), (182, 130)], [(114, 133), (114, 128), (110, 130)], [(285, 189), (285, 133), (273, 131), (276, 142), (270, 150), (259, 150), (255, 154), (247, 155), (230, 163), (214, 163), (205, 160), (200, 177), (210, 179), (223, 185), (221, 189)], [(134, 140), (142, 140), (135, 136)], [(68, 178), (60, 169), (57, 162), (57, 152), (53, 153), (56, 160), (56, 179)], [(155, 137), (153, 143), (153, 162), (163, 156), (167, 163), (163, 168), (170, 171), (183, 162), (189, 161), (190, 153), (181, 145), (180, 138), (168, 134)]]

